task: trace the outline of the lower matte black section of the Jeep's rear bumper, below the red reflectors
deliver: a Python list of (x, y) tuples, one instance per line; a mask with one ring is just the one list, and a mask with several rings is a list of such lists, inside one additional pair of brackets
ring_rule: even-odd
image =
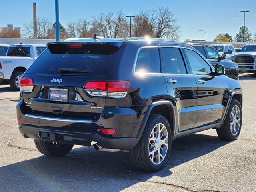
[[(90, 146), (92, 141), (97, 142), (102, 148), (131, 150), (137, 144), (140, 138), (104, 138), (96, 133), (82, 131), (67, 131), (61, 129), (42, 128), (40, 126), (22, 125), (19, 127), (20, 133), (25, 138), (33, 138), (49, 142), (58, 142), (62, 144), (77, 144)], [(42, 133), (52, 134), (48, 138), (43, 138)]]

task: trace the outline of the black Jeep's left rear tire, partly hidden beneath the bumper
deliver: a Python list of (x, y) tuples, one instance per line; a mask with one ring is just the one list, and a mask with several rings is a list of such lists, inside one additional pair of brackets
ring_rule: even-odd
[(34, 139), (39, 152), (47, 156), (61, 157), (68, 154), (74, 145), (66, 145)]

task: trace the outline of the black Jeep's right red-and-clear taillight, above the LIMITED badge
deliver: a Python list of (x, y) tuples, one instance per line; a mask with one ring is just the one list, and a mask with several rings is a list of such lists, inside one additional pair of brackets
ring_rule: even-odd
[(130, 81), (88, 81), (84, 89), (91, 96), (98, 97), (125, 97), (131, 87)]

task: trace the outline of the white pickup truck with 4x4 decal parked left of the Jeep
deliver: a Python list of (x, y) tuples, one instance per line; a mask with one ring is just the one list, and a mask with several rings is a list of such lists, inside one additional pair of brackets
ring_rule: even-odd
[(20, 90), (20, 77), (46, 48), (38, 44), (11, 45), (6, 56), (0, 57), (0, 81), (7, 81), (13, 90)]

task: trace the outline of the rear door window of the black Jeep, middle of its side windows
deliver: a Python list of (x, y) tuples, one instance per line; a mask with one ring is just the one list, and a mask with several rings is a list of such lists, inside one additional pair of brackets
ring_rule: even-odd
[(187, 74), (179, 48), (160, 48), (164, 73)]

